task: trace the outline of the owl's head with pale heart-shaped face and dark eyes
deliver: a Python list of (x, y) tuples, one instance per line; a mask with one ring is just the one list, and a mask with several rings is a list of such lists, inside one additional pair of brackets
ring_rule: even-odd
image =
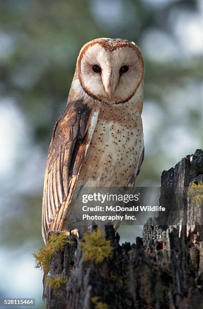
[(134, 42), (100, 38), (85, 44), (77, 60), (80, 84), (89, 96), (112, 104), (127, 102), (144, 75), (144, 61)]

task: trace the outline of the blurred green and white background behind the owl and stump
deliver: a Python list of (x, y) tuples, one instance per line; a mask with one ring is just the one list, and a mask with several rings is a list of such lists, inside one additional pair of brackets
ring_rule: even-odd
[[(0, 0), (0, 297), (41, 301), (41, 199), (48, 145), (80, 48), (135, 41), (145, 59), (139, 186), (202, 147), (202, 0)], [(141, 230), (141, 229), (140, 229)], [(122, 229), (123, 240), (133, 240)]]

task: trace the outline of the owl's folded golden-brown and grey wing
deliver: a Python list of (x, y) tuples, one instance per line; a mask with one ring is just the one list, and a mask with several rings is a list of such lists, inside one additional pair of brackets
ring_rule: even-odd
[[(94, 123), (92, 124), (92, 118)], [(81, 100), (70, 102), (57, 121), (45, 168), (42, 235), (61, 230), (79, 170), (95, 128), (95, 115)], [(89, 130), (88, 130), (89, 129)], [(87, 131), (88, 130), (88, 131)]]

